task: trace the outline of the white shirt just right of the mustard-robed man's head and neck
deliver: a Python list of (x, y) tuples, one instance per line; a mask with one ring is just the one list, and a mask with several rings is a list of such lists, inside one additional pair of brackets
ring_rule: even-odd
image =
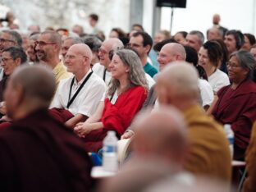
[(198, 85), (203, 102), (202, 106), (211, 105), (211, 103), (213, 103), (214, 98), (213, 88), (211, 87), (207, 80), (199, 79)]

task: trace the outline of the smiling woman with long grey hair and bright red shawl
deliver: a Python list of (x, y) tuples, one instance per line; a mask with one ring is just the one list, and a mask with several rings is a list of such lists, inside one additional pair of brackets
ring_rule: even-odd
[(97, 152), (108, 130), (120, 137), (130, 126), (148, 94), (148, 82), (137, 54), (129, 49), (117, 50), (110, 64), (112, 80), (104, 101), (84, 123), (75, 126), (75, 133), (85, 139), (85, 148)]

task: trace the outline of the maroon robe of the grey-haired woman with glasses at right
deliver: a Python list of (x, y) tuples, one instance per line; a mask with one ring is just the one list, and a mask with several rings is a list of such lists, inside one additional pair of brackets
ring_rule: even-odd
[(217, 96), (213, 116), (223, 125), (231, 124), (235, 133), (234, 158), (243, 159), (256, 120), (256, 84), (245, 80), (235, 90), (228, 85), (220, 89)]

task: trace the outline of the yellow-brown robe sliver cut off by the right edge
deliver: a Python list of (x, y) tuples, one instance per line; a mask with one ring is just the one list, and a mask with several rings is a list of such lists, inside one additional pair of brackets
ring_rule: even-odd
[(249, 146), (245, 156), (248, 177), (245, 180), (244, 192), (256, 191), (256, 123), (254, 123)]

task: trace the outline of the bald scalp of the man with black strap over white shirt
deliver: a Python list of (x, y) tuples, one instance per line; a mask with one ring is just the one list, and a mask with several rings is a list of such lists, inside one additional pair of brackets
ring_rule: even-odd
[(75, 55), (88, 57), (89, 63), (92, 61), (92, 58), (93, 58), (93, 53), (91, 49), (85, 43), (73, 44), (71, 48), (69, 48), (68, 52), (75, 53)]

